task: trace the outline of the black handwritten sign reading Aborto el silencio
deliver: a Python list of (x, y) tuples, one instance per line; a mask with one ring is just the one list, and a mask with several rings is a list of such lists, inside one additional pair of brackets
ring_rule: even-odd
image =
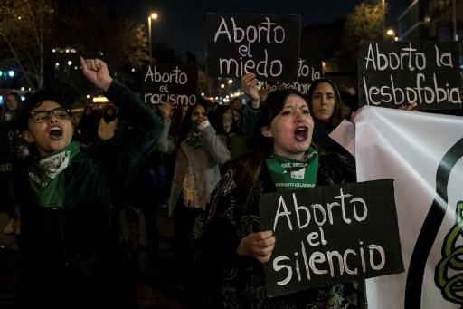
[(265, 193), (269, 297), (404, 271), (392, 179)]

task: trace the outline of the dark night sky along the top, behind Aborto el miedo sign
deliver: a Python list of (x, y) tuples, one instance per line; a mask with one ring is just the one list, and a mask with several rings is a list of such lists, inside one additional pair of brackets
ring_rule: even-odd
[[(359, 0), (97, 0), (118, 15), (126, 15), (137, 23), (146, 23), (155, 11), (159, 18), (153, 22), (154, 43), (166, 43), (175, 54), (190, 50), (198, 61), (205, 61), (206, 16), (220, 14), (300, 14), (301, 26), (332, 24), (354, 12)], [(403, 1), (387, 1), (395, 11)], [(388, 14), (389, 15), (389, 14)]]

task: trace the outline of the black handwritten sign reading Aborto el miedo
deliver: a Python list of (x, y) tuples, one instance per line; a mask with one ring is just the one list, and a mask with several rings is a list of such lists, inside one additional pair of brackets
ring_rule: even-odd
[(207, 25), (208, 75), (297, 79), (300, 15), (210, 13)]

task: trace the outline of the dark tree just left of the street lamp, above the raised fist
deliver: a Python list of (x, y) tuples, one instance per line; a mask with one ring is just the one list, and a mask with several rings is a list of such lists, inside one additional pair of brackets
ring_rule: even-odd
[(149, 63), (145, 25), (110, 14), (92, 1), (67, 7), (57, 30), (61, 46), (74, 46), (84, 57), (103, 59), (111, 73), (128, 85), (137, 82), (137, 72)]

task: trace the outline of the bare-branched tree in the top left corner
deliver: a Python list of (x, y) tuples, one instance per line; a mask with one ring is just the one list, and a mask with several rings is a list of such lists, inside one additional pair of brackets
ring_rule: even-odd
[(53, 0), (0, 0), (0, 42), (5, 62), (17, 66), (32, 89), (43, 86), (44, 46), (56, 16)]

